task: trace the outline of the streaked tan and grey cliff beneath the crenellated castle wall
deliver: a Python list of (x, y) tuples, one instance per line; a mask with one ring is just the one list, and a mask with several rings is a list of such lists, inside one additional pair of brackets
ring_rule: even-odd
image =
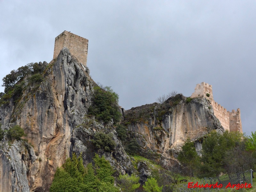
[(200, 139), (213, 129), (224, 132), (206, 98), (187, 100), (181, 94), (163, 104), (131, 108), (124, 122), (141, 147), (166, 158), (176, 156), (188, 138)]

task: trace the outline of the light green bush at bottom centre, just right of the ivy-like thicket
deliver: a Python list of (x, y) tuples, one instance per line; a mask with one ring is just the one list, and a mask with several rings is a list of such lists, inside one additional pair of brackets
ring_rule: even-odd
[(134, 174), (129, 176), (128, 174), (119, 175), (118, 186), (123, 192), (135, 192), (135, 189), (140, 187), (139, 177), (136, 177)]

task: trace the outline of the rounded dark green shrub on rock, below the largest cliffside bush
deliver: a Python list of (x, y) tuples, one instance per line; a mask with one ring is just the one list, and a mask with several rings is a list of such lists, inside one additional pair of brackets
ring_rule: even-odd
[(116, 142), (112, 138), (112, 133), (105, 134), (103, 132), (96, 132), (92, 142), (96, 145), (97, 148), (111, 152), (116, 148)]

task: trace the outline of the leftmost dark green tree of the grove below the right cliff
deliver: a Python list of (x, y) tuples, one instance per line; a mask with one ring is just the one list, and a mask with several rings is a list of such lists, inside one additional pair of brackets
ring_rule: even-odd
[(178, 155), (178, 160), (181, 164), (183, 164), (184, 167), (187, 168), (187, 174), (192, 177), (197, 172), (200, 164), (200, 157), (197, 155), (194, 143), (191, 142), (190, 139), (186, 140), (181, 149), (182, 150)]

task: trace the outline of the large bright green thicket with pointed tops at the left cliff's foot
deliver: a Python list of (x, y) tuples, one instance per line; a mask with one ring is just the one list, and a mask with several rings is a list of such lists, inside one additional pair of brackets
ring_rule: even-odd
[(68, 158), (63, 167), (58, 168), (50, 192), (117, 192), (114, 186), (113, 168), (102, 156), (95, 155), (93, 158), (95, 166), (92, 163), (83, 165), (82, 157), (76, 158), (73, 154), (72, 159)]

